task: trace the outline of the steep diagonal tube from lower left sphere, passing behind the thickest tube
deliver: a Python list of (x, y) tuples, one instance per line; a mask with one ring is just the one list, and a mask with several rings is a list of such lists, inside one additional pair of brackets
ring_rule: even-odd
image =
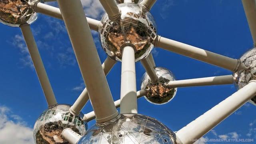
[[(102, 69), (104, 71), (104, 74), (107, 75), (108, 72), (113, 68), (113, 66), (116, 64), (116, 61), (111, 60), (110, 58), (106, 58), (106, 60), (102, 64)], [(89, 100), (89, 95), (87, 92), (87, 89), (84, 88), (80, 96), (77, 98), (77, 100), (74, 102), (74, 104), (70, 107), (70, 112), (72, 112), (74, 115), (79, 115), (81, 110), (84, 108), (85, 104)]]

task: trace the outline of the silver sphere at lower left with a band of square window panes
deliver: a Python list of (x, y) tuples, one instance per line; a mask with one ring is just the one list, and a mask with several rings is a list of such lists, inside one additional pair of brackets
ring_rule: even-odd
[(84, 134), (87, 123), (82, 121), (84, 116), (74, 116), (67, 104), (59, 104), (45, 110), (36, 120), (34, 126), (34, 141), (36, 144), (69, 144), (61, 136), (62, 130), (71, 128), (78, 134)]

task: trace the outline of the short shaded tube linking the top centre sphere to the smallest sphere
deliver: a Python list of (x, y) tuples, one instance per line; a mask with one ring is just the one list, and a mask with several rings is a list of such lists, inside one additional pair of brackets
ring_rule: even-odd
[(149, 58), (144, 58), (142, 60), (140, 60), (142, 66), (144, 67), (144, 69), (146, 70), (149, 78), (151, 81), (156, 81), (158, 80), (158, 76), (156, 75), (156, 71), (154, 70)]

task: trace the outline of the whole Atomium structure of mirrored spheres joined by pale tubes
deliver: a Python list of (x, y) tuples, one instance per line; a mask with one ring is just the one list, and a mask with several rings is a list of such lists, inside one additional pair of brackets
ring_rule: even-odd
[[(36, 144), (192, 144), (246, 102), (256, 105), (255, 46), (234, 59), (164, 38), (158, 35), (150, 13), (156, 0), (100, 0), (106, 10), (100, 21), (84, 17), (80, 0), (56, 1), (59, 8), (38, 0), (0, 0), (0, 22), (22, 30), (48, 104), (34, 125)], [(242, 0), (242, 3), (255, 44), (256, 1)], [(64, 20), (86, 85), (73, 105), (56, 101), (30, 29), (36, 13)], [(102, 65), (90, 30), (98, 32), (108, 56)], [(233, 75), (176, 80), (170, 70), (156, 66), (154, 47), (225, 68)], [(106, 75), (117, 61), (122, 63), (121, 92), (120, 100), (114, 102)], [(146, 70), (139, 91), (135, 62), (141, 62)], [(177, 132), (155, 118), (140, 114), (137, 108), (137, 98), (142, 96), (152, 104), (166, 104), (174, 98), (178, 87), (233, 83), (237, 92)], [(89, 99), (94, 111), (82, 114)], [(87, 122), (94, 118), (96, 124), (87, 129)]]

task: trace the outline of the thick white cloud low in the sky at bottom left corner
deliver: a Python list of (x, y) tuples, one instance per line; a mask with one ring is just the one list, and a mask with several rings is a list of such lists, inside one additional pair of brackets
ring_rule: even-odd
[(0, 144), (34, 144), (33, 129), (5, 106), (0, 106)]

